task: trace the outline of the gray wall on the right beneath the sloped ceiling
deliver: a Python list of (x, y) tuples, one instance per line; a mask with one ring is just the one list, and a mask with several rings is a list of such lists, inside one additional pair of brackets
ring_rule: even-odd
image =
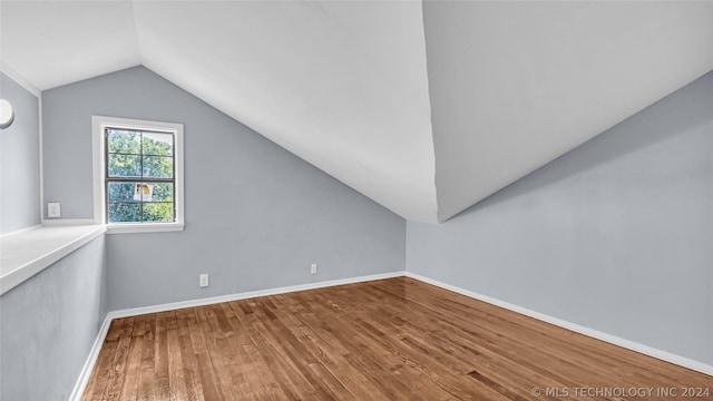
[(710, 72), (445, 224), (409, 222), (407, 271), (713, 364), (712, 110)]

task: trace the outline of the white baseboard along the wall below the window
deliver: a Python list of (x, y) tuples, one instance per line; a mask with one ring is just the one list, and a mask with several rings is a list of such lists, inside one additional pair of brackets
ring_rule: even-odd
[(174, 302), (174, 303), (167, 303), (167, 304), (160, 304), (160, 305), (154, 305), (154, 306), (133, 307), (133, 309), (109, 312), (109, 315), (111, 316), (111, 319), (137, 316), (137, 315), (147, 314), (147, 313), (174, 311), (174, 310), (186, 309), (186, 307), (211, 305), (211, 304), (216, 304), (221, 302), (240, 301), (240, 300), (247, 300), (247, 299), (267, 296), (267, 295), (287, 294), (287, 293), (297, 292), (297, 291), (325, 288), (325, 287), (335, 286), (335, 285), (363, 283), (363, 282), (369, 282), (374, 280), (402, 277), (404, 273), (406, 272), (381, 273), (381, 274), (373, 274), (368, 276), (330, 280), (330, 281), (323, 281), (318, 283), (297, 284), (297, 285), (277, 287), (277, 288), (258, 290), (258, 291), (251, 291), (245, 293), (212, 296), (206, 299)]

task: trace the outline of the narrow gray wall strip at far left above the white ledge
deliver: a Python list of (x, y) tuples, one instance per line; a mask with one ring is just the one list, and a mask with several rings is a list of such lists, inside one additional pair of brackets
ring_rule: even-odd
[(0, 233), (40, 224), (39, 99), (0, 72), (14, 123), (0, 130)]

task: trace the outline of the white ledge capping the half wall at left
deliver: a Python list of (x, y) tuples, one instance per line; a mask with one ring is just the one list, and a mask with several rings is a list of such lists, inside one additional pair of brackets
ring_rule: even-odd
[(104, 225), (41, 226), (0, 236), (0, 295), (106, 231)]

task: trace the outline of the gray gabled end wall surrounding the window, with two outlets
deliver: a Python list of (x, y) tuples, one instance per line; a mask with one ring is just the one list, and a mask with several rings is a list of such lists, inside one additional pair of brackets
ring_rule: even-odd
[(92, 115), (184, 124), (186, 228), (107, 236), (110, 310), (406, 267), (401, 217), (144, 67), (48, 90), (42, 108), (45, 197), (67, 218), (92, 217)]

